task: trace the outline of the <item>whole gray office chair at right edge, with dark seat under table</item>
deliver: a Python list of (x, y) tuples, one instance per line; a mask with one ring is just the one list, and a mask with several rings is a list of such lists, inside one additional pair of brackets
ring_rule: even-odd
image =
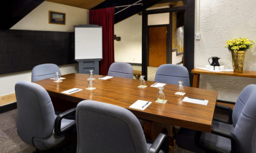
[(181, 128), (177, 145), (195, 152), (256, 152), (256, 85), (242, 90), (233, 111), (222, 109), (230, 112), (228, 122), (213, 121), (211, 133)]

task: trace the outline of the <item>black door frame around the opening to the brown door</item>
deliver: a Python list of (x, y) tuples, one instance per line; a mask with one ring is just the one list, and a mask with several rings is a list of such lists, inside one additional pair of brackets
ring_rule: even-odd
[[(176, 0), (170, 1), (174, 2)], [(142, 75), (147, 80), (147, 15), (156, 13), (176, 12), (184, 11), (184, 66), (187, 68), (189, 73), (190, 86), (193, 83), (193, 77), (191, 70), (194, 68), (194, 50), (195, 50), (195, 1), (194, 0), (183, 0), (184, 6), (174, 8), (164, 8), (156, 10), (146, 10), (146, 6), (142, 11)], [(147, 6), (148, 7), (148, 6)]]

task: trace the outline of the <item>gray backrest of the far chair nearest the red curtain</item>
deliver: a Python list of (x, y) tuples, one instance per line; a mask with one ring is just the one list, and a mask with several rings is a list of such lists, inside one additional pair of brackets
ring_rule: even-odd
[(115, 62), (110, 65), (108, 75), (133, 79), (133, 67), (129, 63)]

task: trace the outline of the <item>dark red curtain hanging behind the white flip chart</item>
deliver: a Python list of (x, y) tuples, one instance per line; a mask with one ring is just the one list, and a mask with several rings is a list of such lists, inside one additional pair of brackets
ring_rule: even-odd
[(114, 13), (114, 7), (90, 10), (90, 24), (102, 26), (103, 59), (99, 62), (100, 75), (107, 75), (114, 62)]

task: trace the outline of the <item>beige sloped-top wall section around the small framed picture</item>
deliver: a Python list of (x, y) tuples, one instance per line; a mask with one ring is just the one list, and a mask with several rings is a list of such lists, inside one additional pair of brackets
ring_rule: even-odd
[[(66, 13), (66, 25), (49, 24), (49, 11)], [(78, 24), (89, 24), (89, 10), (45, 1), (11, 29), (73, 32)]]

